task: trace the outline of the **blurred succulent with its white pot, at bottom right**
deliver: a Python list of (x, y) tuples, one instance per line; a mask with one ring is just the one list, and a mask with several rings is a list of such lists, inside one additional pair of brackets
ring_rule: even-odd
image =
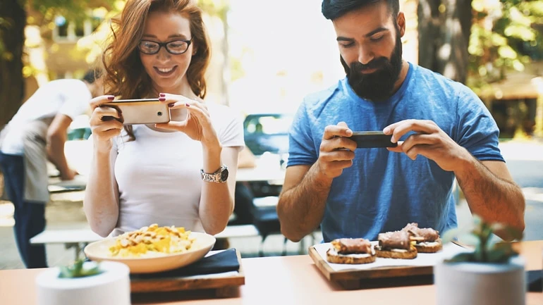
[[(522, 233), (501, 224), (484, 222), (473, 216), (474, 225), (463, 242), (473, 247), (434, 266), (438, 305), (525, 304), (525, 262), (512, 244), (493, 236), (506, 230), (514, 239)], [(444, 235), (444, 242), (457, 237), (458, 230)]]

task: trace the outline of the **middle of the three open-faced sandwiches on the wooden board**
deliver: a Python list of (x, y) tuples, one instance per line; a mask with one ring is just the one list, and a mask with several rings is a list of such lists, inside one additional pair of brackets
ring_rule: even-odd
[(377, 236), (379, 245), (375, 246), (377, 257), (386, 259), (415, 259), (417, 249), (411, 243), (410, 234), (407, 231), (394, 231), (379, 233)]

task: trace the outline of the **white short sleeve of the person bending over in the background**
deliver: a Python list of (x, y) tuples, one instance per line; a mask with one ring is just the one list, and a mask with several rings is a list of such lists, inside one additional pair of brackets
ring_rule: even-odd
[(64, 102), (59, 109), (59, 113), (70, 117), (72, 120), (76, 116), (87, 112), (89, 101), (92, 99), (89, 89), (87, 89), (84, 82), (76, 84), (69, 84), (62, 88)]

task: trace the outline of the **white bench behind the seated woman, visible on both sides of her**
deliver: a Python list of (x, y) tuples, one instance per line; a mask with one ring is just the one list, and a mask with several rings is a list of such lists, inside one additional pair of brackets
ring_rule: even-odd
[[(216, 238), (256, 237), (260, 236), (254, 225), (230, 225), (215, 235)], [(90, 242), (103, 239), (90, 229), (46, 229), (30, 239), (31, 244), (64, 244), (66, 249), (75, 249), (75, 259), (79, 259), (81, 250)]]

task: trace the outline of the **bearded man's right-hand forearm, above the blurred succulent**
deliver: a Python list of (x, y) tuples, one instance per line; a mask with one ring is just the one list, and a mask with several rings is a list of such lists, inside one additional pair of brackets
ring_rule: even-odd
[(518, 185), (494, 175), (475, 158), (455, 174), (472, 213), (524, 230), (525, 199)]

